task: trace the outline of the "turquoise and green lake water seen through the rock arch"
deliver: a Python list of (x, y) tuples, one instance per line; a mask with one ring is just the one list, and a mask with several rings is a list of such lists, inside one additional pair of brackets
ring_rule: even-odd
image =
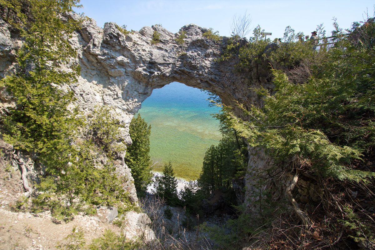
[(205, 151), (221, 139), (219, 121), (210, 115), (219, 108), (209, 107), (207, 98), (198, 88), (172, 82), (142, 102), (138, 113), (151, 124), (150, 156), (158, 162), (154, 171), (171, 161), (177, 177), (199, 177)]

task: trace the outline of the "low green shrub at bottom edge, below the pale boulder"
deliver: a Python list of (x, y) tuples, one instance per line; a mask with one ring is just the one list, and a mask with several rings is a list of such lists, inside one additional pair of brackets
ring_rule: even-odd
[(139, 241), (129, 241), (126, 235), (117, 235), (111, 229), (107, 229), (102, 237), (94, 239), (88, 246), (89, 250), (133, 250), (139, 249), (141, 243)]

